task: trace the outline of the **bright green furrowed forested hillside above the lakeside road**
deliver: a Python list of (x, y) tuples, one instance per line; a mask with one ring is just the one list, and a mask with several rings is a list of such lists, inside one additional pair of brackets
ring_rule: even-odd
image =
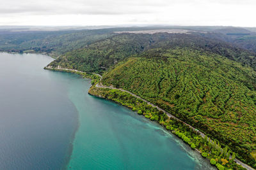
[[(129, 90), (255, 163), (256, 73), (221, 55), (154, 49), (117, 64), (102, 83)], [(253, 163), (254, 162), (254, 163)]]

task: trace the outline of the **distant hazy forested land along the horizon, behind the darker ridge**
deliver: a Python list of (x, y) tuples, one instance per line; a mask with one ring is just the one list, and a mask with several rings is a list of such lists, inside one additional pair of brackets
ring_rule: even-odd
[[(22, 29), (0, 29), (0, 51), (38, 52), (57, 57), (66, 52), (84, 48), (100, 39), (116, 35), (116, 31), (144, 31), (152, 29), (186, 29), (218, 41), (232, 43), (237, 48), (256, 52), (256, 32), (241, 27), (114, 27), (108, 29), (22, 31)], [(250, 29), (253, 30), (253, 29)], [(192, 40), (192, 39), (191, 39)]]

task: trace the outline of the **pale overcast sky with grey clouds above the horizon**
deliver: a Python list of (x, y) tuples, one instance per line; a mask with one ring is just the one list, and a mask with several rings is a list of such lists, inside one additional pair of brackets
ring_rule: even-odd
[(0, 25), (256, 27), (255, 0), (0, 0)]

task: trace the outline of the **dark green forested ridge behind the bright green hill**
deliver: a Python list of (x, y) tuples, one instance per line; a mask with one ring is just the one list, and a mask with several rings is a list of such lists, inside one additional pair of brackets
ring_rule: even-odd
[[(256, 69), (255, 53), (226, 43), (225, 41), (205, 38), (197, 33), (189, 34), (128, 34), (122, 33), (103, 39), (91, 45), (65, 53), (49, 66), (67, 67), (86, 72), (100, 73), (131, 55), (136, 55), (152, 48), (189, 47), (218, 53), (231, 60)], [(156, 54), (158, 55), (158, 54)]]

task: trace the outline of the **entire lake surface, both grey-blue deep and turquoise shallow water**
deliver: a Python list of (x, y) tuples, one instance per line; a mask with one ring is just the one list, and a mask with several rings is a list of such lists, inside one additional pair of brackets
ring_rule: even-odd
[(158, 124), (88, 95), (90, 80), (0, 53), (0, 169), (213, 169)]

